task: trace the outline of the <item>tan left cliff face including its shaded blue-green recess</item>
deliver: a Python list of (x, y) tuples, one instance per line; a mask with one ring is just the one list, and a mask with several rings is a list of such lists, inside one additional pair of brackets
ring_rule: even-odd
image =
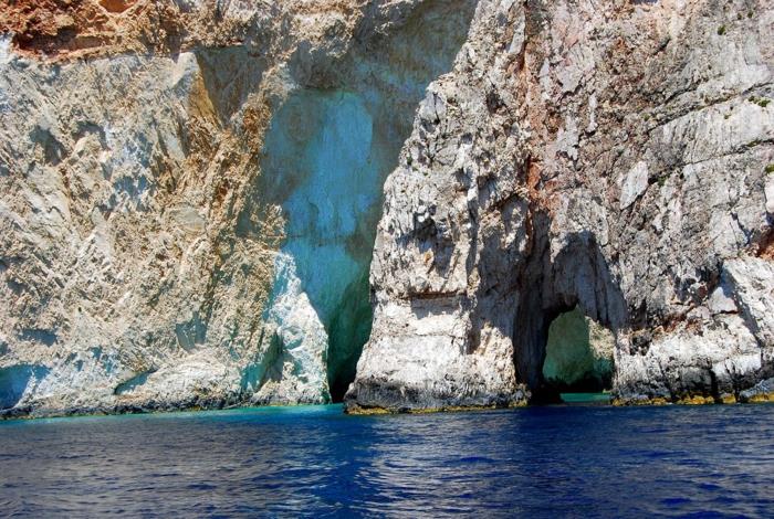
[(341, 398), (384, 179), (473, 7), (0, 8), (0, 410)]

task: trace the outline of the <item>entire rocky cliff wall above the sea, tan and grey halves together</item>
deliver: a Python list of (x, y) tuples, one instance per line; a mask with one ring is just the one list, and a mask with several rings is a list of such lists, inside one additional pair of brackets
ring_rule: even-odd
[(573, 308), (621, 402), (762, 399), (773, 25), (763, 0), (6, 2), (0, 413), (519, 405)]

